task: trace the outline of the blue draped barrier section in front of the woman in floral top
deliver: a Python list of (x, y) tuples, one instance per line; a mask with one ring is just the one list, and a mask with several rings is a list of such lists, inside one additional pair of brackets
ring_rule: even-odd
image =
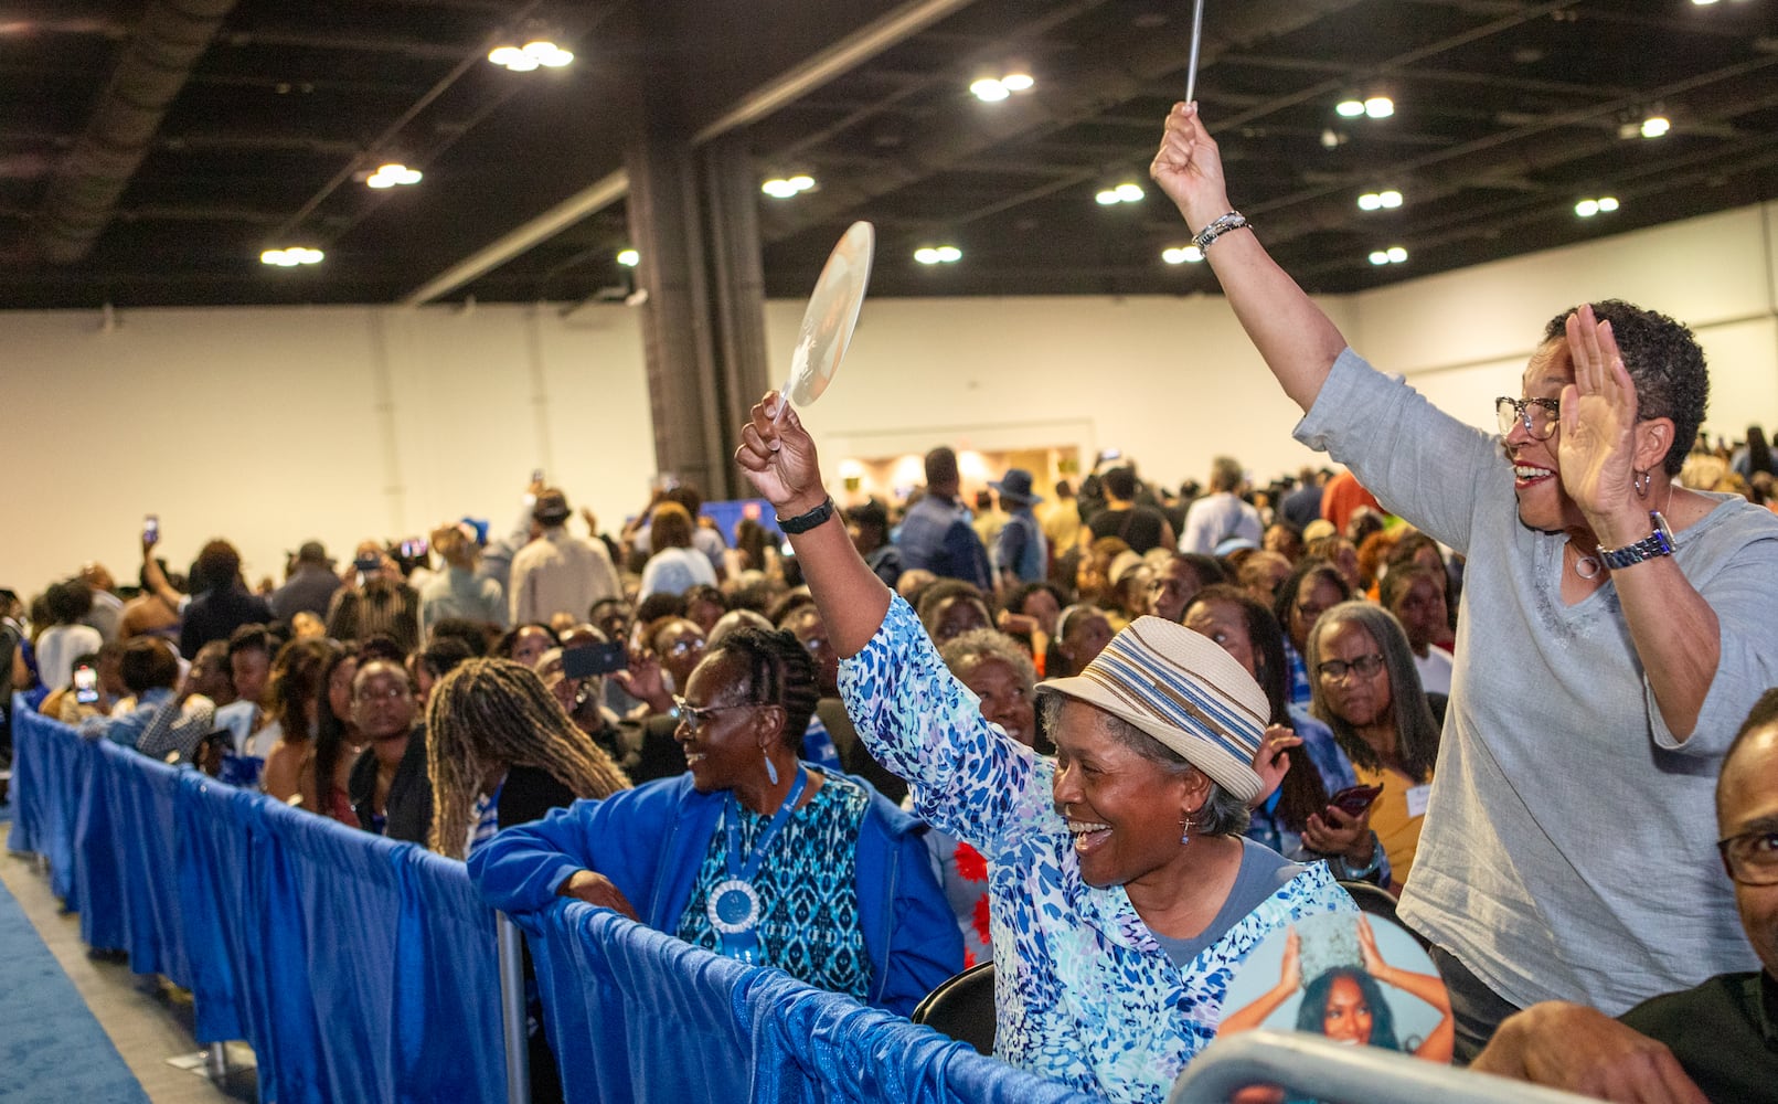
[(562, 901), (523, 919), (569, 1104), (820, 1100), (1086, 1104), (782, 971), (745, 967)]

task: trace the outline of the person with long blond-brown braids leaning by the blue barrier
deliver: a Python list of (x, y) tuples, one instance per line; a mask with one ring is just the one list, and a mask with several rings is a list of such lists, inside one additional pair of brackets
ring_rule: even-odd
[(510, 660), (466, 660), (432, 688), (427, 768), (428, 843), (452, 859), (576, 798), (629, 789), (624, 772), (574, 727), (542, 679)]

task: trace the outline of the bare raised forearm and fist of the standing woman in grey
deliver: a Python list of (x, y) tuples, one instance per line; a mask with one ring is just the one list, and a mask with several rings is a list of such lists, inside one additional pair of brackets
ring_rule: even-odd
[[(1221, 153), (1204, 130), (1195, 103), (1177, 103), (1168, 112), (1161, 151), (1154, 155), (1149, 176), (1179, 206), (1193, 235), (1234, 212), (1223, 183)], [(1220, 235), (1204, 251), (1204, 260), (1284, 393), (1303, 411), (1312, 407), (1328, 368), (1346, 348), (1339, 327), (1266, 254), (1253, 229)]]

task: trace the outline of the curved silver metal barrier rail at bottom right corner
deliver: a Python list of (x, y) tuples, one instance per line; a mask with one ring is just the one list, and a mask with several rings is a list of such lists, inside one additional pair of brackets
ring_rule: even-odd
[(1218, 1038), (1173, 1083), (1166, 1104), (1225, 1104), (1252, 1084), (1330, 1104), (1582, 1104), (1584, 1097), (1470, 1074), (1408, 1054), (1350, 1047), (1294, 1031)]

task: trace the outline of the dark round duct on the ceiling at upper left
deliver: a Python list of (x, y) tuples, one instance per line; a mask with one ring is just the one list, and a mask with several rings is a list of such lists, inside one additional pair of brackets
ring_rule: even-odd
[(50, 180), (32, 238), (44, 260), (71, 265), (92, 251), (167, 108), (235, 4), (151, 0), (85, 132)]

